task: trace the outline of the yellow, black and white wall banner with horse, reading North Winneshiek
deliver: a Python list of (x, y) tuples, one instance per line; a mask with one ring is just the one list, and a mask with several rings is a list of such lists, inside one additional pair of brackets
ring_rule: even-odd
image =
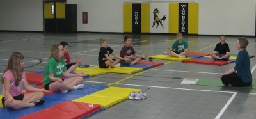
[(198, 34), (198, 3), (124, 3), (124, 33)]

